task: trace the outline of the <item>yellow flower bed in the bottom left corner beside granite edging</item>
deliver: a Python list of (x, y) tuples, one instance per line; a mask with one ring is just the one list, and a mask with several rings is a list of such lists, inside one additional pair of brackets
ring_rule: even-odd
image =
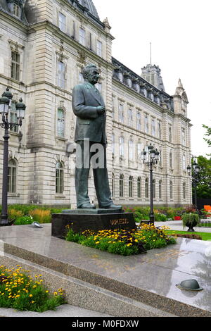
[(29, 273), (19, 265), (16, 269), (0, 266), (0, 307), (41, 313), (65, 304), (63, 289), (50, 293), (41, 275), (33, 280)]

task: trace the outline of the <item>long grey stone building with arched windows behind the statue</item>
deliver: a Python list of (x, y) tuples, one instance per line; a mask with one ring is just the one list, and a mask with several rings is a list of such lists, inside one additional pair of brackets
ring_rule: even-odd
[[(98, 89), (106, 101), (107, 159), (113, 200), (149, 204), (149, 170), (141, 151), (160, 151), (154, 168), (154, 204), (191, 204), (188, 99), (181, 81), (173, 96), (165, 92), (160, 68), (141, 75), (112, 56), (113, 36), (92, 0), (0, 0), (0, 93), (9, 87), (22, 97), (23, 126), (9, 139), (9, 204), (75, 206), (75, 115), (72, 88), (82, 68), (101, 70)], [(1, 137), (4, 130), (0, 129)], [(0, 142), (2, 186), (3, 139)], [(89, 196), (96, 203), (90, 173)]]

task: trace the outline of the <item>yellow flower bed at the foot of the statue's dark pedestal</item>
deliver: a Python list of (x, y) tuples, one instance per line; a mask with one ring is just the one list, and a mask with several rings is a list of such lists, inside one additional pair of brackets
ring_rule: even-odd
[(66, 240), (123, 256), (146, 253), (149, 249), (177, 242), (174, 237), (167, 235), (165, 227), (158, 228), (147, 224), (141, 224), (134, 230), (86, 230), (82, 234), (75, 233), (70, 225), (67, 227)]

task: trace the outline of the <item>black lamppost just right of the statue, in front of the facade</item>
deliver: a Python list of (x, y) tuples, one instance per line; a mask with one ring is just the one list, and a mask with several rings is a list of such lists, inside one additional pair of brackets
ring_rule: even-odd
[(155, 222), (155, 216), (153, 211), (153, 165), (158, 164), (159, 160), (159, 151), (158, 149), (154, 149), (154, 147), (150, 144), (148, 146), (148, 158), (146, 158), (147, 152), (143, 150), (143, 163), (148, 165), (150, 170), (150, 189), (151, 189), (151, 212), (150, 212), (150, 223)]

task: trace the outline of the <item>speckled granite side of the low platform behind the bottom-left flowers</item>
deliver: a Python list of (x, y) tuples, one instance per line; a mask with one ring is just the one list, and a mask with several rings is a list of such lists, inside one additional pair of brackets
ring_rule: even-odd
[[(93, 316), (116, 316), (116, 317), (176, 317), (171, 313), (153, 308), (134, 299), (129, 299), (127, 296), (111, 292), (102, 287), (92, 285), (88, 282), (78, 280), (75, 277), (63, 275), (50, 268), (46, 268), (37, 263), (26, 261), (18, 256), (4, 253), (0, 258), (1, 265), (8, 268), (17, 268), (17, 264), (25, 270), (30, 270), (30, 275), (42, 275), (46, 287), (52, 292), (58, 288), (65, 290), (65, 299), (70, 306), (84, 308), (94, 313)], [(60, 311), (65, 308), (59, 308)], [(68, 309), (68, 307), (67, 307)], [(12, 311), (5, 311), (4, 316), (11, 316)], [(101, 313), (101, 314), (97, 314)], [(2, 313), (2, 312), (1, 312)], [(56, 316), (55, 312), (44, 313), (45, 316)], [(23, 313), (22, 313), (23, 315)], [(15, 316), (20, 316), (20, 313), (15, 313)], [(25, 316), (40, 316), (40, 313), (25, 313)], [(60, 316), (63, 316), (60, 313)], [(70, 314), (69, 314), (70, 316)], [(91, 316), (91, 315), (90, 315)]]

